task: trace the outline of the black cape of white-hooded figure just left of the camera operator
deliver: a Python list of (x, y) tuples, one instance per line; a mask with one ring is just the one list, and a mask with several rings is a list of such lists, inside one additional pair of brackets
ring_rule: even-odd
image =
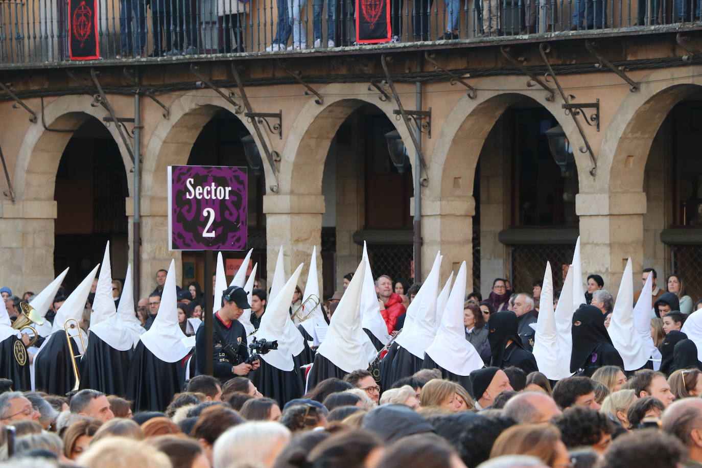
[[(161, 361), (138, 342), (134, 350), (127, 387), (134, 411), (163, 411), (185, 380), (182, 361)], [(192, 364), (191, 364), (192, 365)]]

